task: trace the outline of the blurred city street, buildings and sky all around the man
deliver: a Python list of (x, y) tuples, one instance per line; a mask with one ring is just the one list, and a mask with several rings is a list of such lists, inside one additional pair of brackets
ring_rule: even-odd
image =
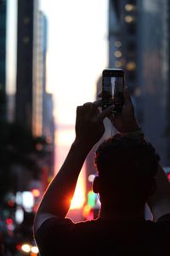
[[(77, 105), (97, 98), (105, 67), (124, 69), (170, 179), (169, 51), (168, 0), (0, 0), (0, 255), (38, 255), (37, 206), (74, 140)], [(115, 132), (105, 127), (102, 139)], [(74, 221), (99, 212), (93, 157), (68, 212)]]

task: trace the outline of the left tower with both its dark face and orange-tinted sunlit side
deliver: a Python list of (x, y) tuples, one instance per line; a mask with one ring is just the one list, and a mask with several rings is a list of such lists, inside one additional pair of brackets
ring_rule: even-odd
[(38, 1), (19, 0), (15, 120), (25, 124), (36, 137), (42, 136), (43, 44), (46, 43)]

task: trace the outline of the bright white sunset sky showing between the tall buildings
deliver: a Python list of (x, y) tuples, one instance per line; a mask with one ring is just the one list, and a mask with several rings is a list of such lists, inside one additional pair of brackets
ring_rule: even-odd
[[(107, 67), (108, 0), (39, 3), (48, 20), (47, 90), (54, 96), (57, 173), (75, 138), (77, 106), (95, 100), (96, 83)], [(8, 0), (8, 93), (15, 88), (16, 7), (17, 0)]]

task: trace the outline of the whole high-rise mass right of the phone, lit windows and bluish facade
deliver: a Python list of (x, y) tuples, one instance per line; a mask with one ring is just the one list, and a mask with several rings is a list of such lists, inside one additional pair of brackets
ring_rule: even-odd
[(109, 66), (125, 70), (145, 137), (169, 166), (169, 3), (110, 0)]

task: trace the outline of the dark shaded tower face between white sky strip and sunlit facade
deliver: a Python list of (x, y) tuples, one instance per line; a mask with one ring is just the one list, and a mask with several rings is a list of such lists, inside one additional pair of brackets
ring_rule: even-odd
[(15, 120), (32, 131), (34, 0), (18, 1)]

